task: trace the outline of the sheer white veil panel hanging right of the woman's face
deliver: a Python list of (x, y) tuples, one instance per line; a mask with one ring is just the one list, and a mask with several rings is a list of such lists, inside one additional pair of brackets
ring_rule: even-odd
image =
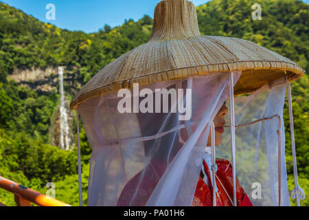
[[(280, 205), (290, 206), (283, 120), (285, 96), (286, 80), (280, 78), (273, 82), (273, 86), (264, 85), (251, 96), (235, 98), (236, 176), (253, 206), (279, 205), (279, 156), (281, 159)], [(241, 126), (263, 118), (271, 119)], [(227, 124), (229, 124), (228, 120), (229, 118), (227, 118)], [(281, 143), (279, 143), (281, 155), (278, 150), (279, 124), (281, 124)], [(230, 131), (227, 129), (222, 144), (216, 148), (217, 157), (231, 159), (230, 136)]]

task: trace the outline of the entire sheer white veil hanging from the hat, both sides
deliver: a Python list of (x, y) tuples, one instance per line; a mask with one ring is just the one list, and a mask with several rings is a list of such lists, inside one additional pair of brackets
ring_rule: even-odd
[[(235, 84), (240, 74), (234, 72)], [(122, 98), (117, 94), (92, 98), (81, 104), (78, 112), (93, 149), (88, 206), (191, 206), (207, 145), (209, 122), (214, 120), (229, 96), (229, 73), (153, 83), (141, 89), (152, 91), (153, 97), (156, 89), (184, 89), (184, 102), (191, 104), (192, 117), (179, 120), (181, 113), (174, 113), (176, 103), (172, 102), (172, 96), (168, 96), (168, 112), (161, 113), (120, 113), (117, 106)], [(186, 89), (192, 91), (190, 98), (186, 96)], [(262, 89), (251, 96), (240, 97), (239, 101), (236, 98), (236, 122), (249, 122), (273, 114), (282, 116), (285, 87)], [(139, 103), (144, 100), (132, 94)], [(158, 103), (155, 98), (153, 102), (155, 109)], [(262, 102), (264, 105), (260, 104)], [(251, 195), (252, 183), (260, 180), (262, 195), (268, 198), (257, 200), (255, 205), (276, 204), (278, 199), (276, 125), (274, 119), (250, 126), (250, 129), (236, 129), (238, 179), (248, 195)], [(228, 130), (225, 135), (225, 142), (216, 150), (218, 157), (230, 159)], [(283, 159), (282, 201), (288, 201), (284, 164)], [(246, 167), (248, 165), (250, 168)]]

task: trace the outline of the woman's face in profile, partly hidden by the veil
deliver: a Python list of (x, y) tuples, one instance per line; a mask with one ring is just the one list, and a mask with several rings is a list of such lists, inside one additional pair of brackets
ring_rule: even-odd
[[(215, 134), (216, 134), (216, 146), (220, 145), (222, 142), (222, 135), (225, 132), (224, 126), (225, 126), (225, 115), (229, 113), (229, 109), (227, 109), (227, 106), (225, 104), (222, 105), (220, 111), (214, 118), (214, 126), (215, 126)], [(211, 146), (211, 131), (209, 131), (208, 135), (208, 141), (207, 146)]]

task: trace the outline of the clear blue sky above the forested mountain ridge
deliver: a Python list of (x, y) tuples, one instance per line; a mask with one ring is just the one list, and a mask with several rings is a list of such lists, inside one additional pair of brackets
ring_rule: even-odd
[[(122, 25), (124, 19), (137, 21), (148, 14), (153, 17), (155, 5), (160, 0), (0, 0), (31, 14), (43, 22), (52, 23), (58, 28), (97, 32), (104, 24)], [(193, 0), (201, 5), (209, 0)], [(309, 3), (309, 0), (305, 0)], [(47, 21), (45, 9), (48, 3), (56, 6), (56, 20)]]

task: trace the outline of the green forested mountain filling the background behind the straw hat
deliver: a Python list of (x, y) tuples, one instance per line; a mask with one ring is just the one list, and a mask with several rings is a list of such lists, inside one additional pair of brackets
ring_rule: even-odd
[[(262, 20), (253, 21), (251, 5), (262, 5)], [(247, 39), (299, 63), (309, 72), (309, 5), (296, 0), (213, 0), (197, 8), (200, 30), (205, 35)], [(92, 34), (62, 30), (38, 21), (0, 2), (0, 175), (45, 192), (47, 182), (56, 183), (56, 197), (78, 204), (77, 153), (50, 145), (50, 128), (59, 104), (56, 73), (48, 73), (47, 91), (38, 80), (11, 80), (19, 72), (65, 66), (68, 100), (94, 74), (118, 56), (146, 43), (152, 32), (152, 19)], [(34, 77), (36, 78), (36, 77)], [(39, 78), (39, 76), (38, 76)], [(41, 83), (41, 84), (40, 84)], [(293, 83), (293, 107), (299, 182), (309, 193), (309, 80), (308, 75)], [(288, 110), (286, 162), (288, 182), (293, 188)], [(73, 125), (76, 131), (76, 122)], [(84, 203), (87, 201), (87, 175), (91, 148), (81, 131)], [(14, 205), (13, 195), (0, 190), (0, 202)], [(308, 206), (309, 199), (302, 201)]]

